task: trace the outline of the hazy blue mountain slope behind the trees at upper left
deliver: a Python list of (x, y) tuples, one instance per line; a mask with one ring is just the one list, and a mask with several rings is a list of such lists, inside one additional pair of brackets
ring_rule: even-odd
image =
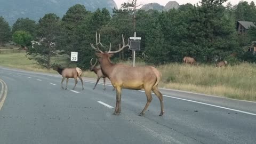
[(55, 13), (62, 18), (69, 7), (75, 4), (82, 4), (88, 11), (95, 11), (98, 8), (106, 7), (110, 13), (117, 5), (114, 0), (0, 0), (0, 16), (9, 23), (10, 26), (18, 18), (29, 18), (38, 21), (46, 13)]

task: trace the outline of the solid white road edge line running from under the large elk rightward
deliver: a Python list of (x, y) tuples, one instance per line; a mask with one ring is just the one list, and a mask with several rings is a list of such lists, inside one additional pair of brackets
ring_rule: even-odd
[[(144, 92), (144, 91), (139, 91), (139, 92)], [(152, 93), (154, 94), (154, 93)], [(179, 99), (179, 100), (185, 100), (185, 101), (189, 101), (189, 102), (195, 102), (195, 103), (200, 103), (202, 105), (207, 105), (207, 106), (212, 106), (212, 107), (217, 107), (217, 108), (222, 108), (222, 109), (228, 109), (228, 110), (232, 110), (232, 111), (237, 111), (239, 113), (244, 113), (244, 114), (249, 114), (249, 115), (253, 115), (253, 116), (256, 116), (256, 114), (253, 114), (253, 113), (249, 113), (249, 112), (246, 112), (246, 111), (242, 111), (242, 110), (237, 110), (237, 109), (231, 109), (231, 108), (226, 108), (226, 107), (221, 107), (221, 106), (216, 106), (216, 105), (211, 105), (209, 103), (204, 103), (204, 102), (199, 102), (199, 101), (194, 101), (194, 100), (187, 100), (187, 99), (182, 99), (182, 98), (177, 98), (177, 97), (171, 97), (169, 95), (164, 95), (164, 97), (168, 97), (168, 98), (173, 98), (173, 99)]]

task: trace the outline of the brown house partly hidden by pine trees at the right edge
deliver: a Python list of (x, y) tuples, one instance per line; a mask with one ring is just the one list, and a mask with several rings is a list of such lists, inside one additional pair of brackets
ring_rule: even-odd
[[(253, 24), (252, 21), (237, 21), (236, 30), (238, 32), (238, 35), (247, 34), (247, 30), (251, 26), (255, 27), (255, 25)], [(250, 46), (248, 46), (248, 51), (256, 52), (256, 45), (255, 44), (256, 44), (255, 42), (252, 42), (252, 44)]]

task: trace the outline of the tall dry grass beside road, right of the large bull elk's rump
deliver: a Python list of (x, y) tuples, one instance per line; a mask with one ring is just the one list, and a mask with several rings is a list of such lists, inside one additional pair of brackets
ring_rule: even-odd
[(161, 86), (223, 97), (256, 100), (255, 64), (214, 68), (209, 65), (190, 66), (178, 63), (159, 66), (163, 74)]

